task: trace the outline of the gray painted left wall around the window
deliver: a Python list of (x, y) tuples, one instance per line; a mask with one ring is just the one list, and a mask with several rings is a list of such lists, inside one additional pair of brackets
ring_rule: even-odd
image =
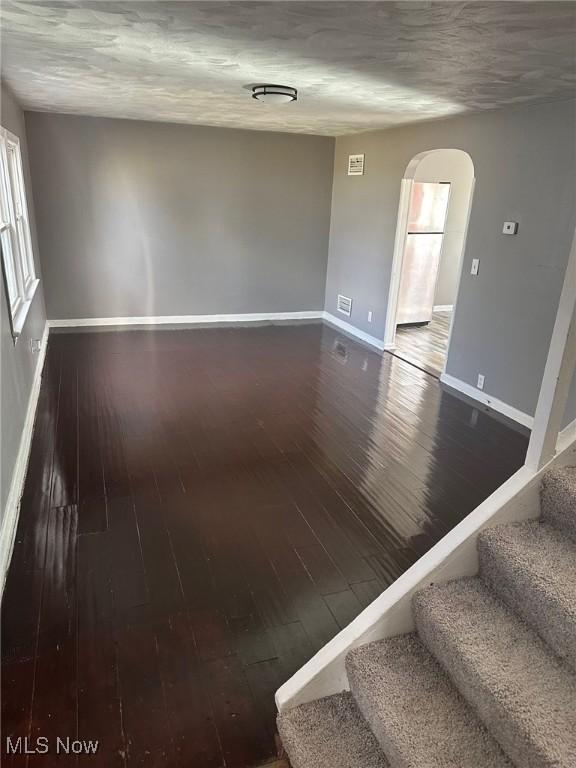
[[(28, 154), (26, 149), (26, 132), (24, 130), (24, 115), (10, 91), (2, 83), (2, 100), (0, 123), (11, 133), (20, 138), (20, 150), (24, 165), (24, 182), (28, 200), (28, 213), (32, 234), (32, 247), (36, 262), (36, 275), (42, 278), (38, 261), (38, 241), (34, 226), (34, 206), (28, 170)], [(10, 490), (12, 473), (20, 446), (22, 428), (26, 417), (28, 399), (32, 388), (37, 354), (30, 351), (30, 339), (40, 339), (44, 332), (46, 311), (42, 293), (42, 279), (36, 290), (34, 301), (30, 307), (26, 323), (18, 344), (14, 346), (10, 333), (10, 316), (6, 302), (4, 287), (0, 286), (0, 379), (1, 386), (1, 488), (0, 488), (0, 525), (4, 520), (6, 500)]]

